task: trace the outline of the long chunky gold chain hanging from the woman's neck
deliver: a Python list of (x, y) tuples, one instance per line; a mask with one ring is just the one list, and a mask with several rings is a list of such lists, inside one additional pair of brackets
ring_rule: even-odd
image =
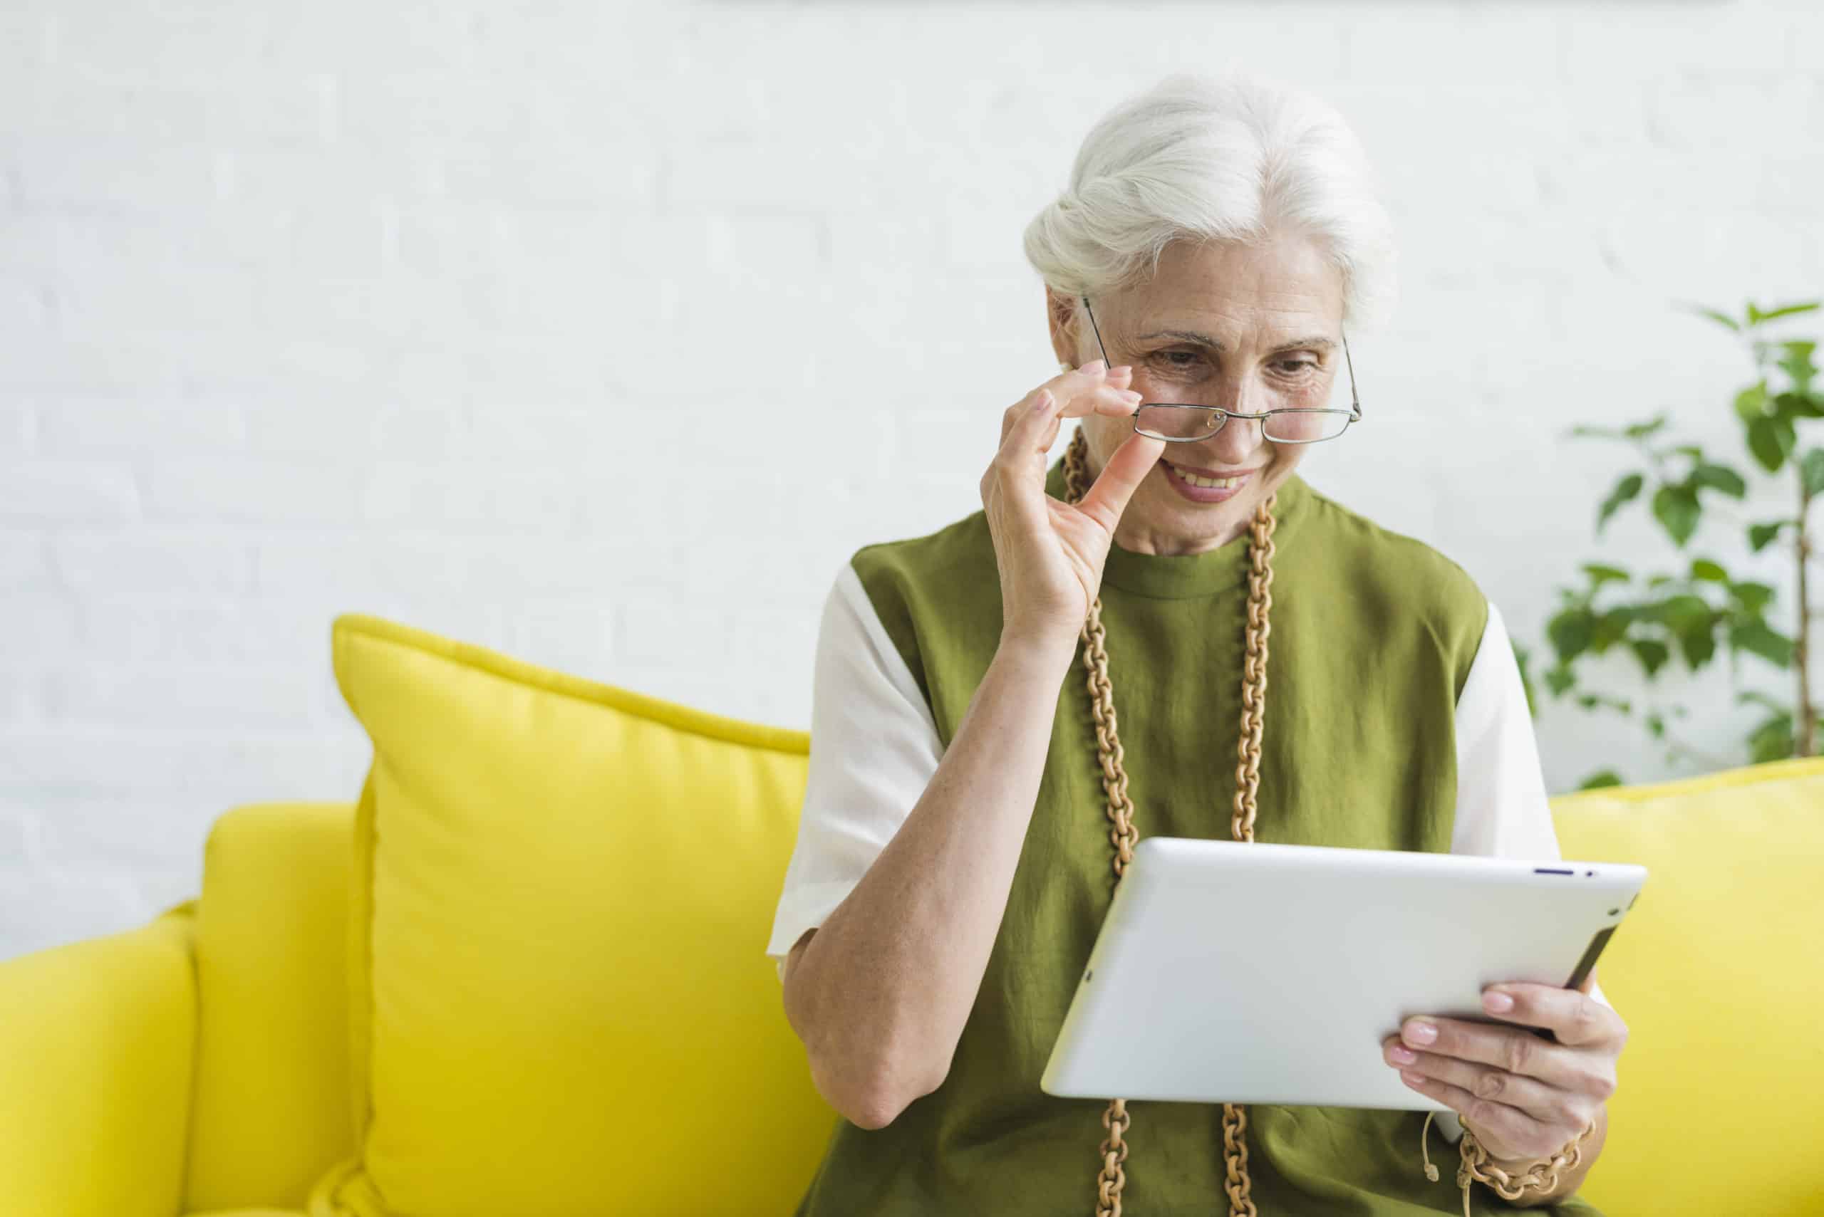
[[(1082, 428), (1063, 452), (1065, 501), (1076, 503), (1089, 490), (1089, 445)], [(1235, 814), (1229, 831), (1238, 842), (1253, 840), (1255, 796), (1260, 789), (1260, 731), (1266, 725), (1266, 639), (1273, 627), (1268, 614), (1273, 608), (1273, 505), (1279, 496), (1268, 496), (1255, 508), (1248, 548), (1248, 654), (1242, 665), (1242, 727), (1235, 767)], [(1120, 885), (1140, 840), (1133, 823), (1133, 800), (1127, 798), (1127, 771), (1122, 767), (1122, 741), (1114, 734), (1114, 689), (1109, 685), (1109, 652), (1102, 629), (1102, 596), (1089, 605), (1083, 619), (1083, 667), (1089, 670), (1089, 709), (1096, 720), (1096, 760), (1102, 765), (1102, 791), (1107, 796), (1109, 842), (1114, 845), (1114, 884)], [(1122, 1188), (1127, 1173), (1129, 1115), (1125, 1099), (1111, 1099), (1102, 1113), (1109, 1135), (1102, 1140), (1102, 1173), (1096, 1177), (1096, 1217), (1120, 1217)], [(1222, 1190), (1229, 1197), (1229, 1217), (1257, 1217), (1248, 1179), (1248, 1108), (1222, 1104)]]

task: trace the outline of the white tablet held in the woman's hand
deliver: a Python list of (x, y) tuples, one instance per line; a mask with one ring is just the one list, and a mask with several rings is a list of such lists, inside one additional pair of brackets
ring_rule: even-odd
[(1381, 1042), (1492, 1022), (1483, 986), (1578, 986), (1647, 871), (1149, 836), (1040, 1088), (1065, 1099), (1445, 1110)]

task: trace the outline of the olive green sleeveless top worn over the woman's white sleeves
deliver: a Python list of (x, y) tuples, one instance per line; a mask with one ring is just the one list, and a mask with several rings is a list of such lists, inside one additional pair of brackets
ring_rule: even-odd
[[(1063, 497), (1062, 459), (1047, 490)], [(1275, 514), (1257, 840), (1448, 851), (1456, 703), (1487, 599), (1439, 552), (1379, 528), (1297, 474), (1282, 483)], [(1180, 557), (1109, 552), (1102, 621), (1142, 836), (1229, 838), (1248, 543), (1244, 534)], [(927, 537), (870, 545), (854, 567), (948, 745), (1000, 641), (987, 519), (976, 512)], [(839, 1120), (801, 1217), (1094, 1212), (1105, 1102), (1052, 1099), (1038, 1080), (1113, 896), (1104, 807), (1078, 643), (1007, 913), (950, 1073), (886, 1128)], [(1224, 933), (1271, 916), (1271, 907), (1235, 909)], [(1222, 1108), (1133, 1102), (1129, 1111), (1125, 1212), (1226, 1213)], [(1423, 1175), (1423, 1120), (1251, 1106), (1260, 1215), (1461, 1212), (1456, 1146), (1435, 1128), (1441, 1181)], [(1508, 1208), (1476, 1188), (1476, 1212)], [(1545, 1212), (1594, 1213), (1580, 1202)]]

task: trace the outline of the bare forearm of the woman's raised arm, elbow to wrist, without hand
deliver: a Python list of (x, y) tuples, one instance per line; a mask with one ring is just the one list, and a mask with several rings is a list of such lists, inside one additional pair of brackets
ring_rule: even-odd
[(1074, 645), (1003, 636), (938, 772), (784, 964), (819, 1093), (861, 1128), (943, 1084), (1000, 933)]

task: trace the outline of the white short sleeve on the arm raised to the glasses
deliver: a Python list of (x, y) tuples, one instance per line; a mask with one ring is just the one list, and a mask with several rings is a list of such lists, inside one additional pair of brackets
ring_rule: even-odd
[(817, 629), (804, 807), (766, 946), (781, 975), (804, 931), (821, 926), (874, 865), (941, 758), (925, 694), (854, 565), (845, 565)]

